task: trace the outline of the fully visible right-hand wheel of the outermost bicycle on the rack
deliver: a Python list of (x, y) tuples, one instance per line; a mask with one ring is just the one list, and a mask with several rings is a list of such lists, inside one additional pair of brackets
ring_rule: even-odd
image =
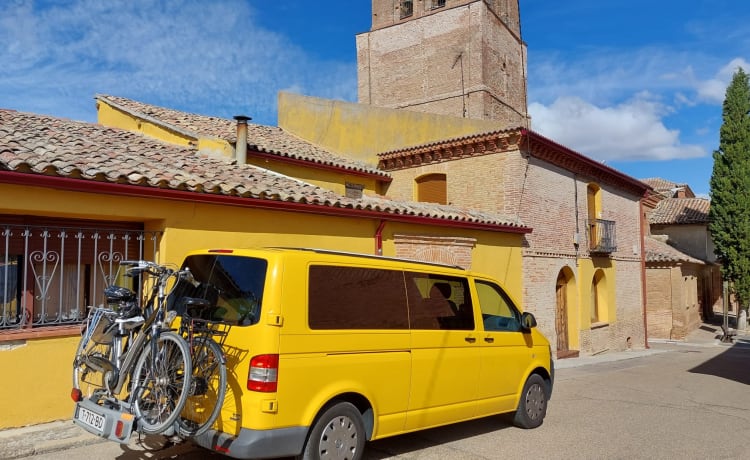
[(131, 403), (139, 429), (160, 434), (172, 427), (185, 406), (192, 361), (187, 343), (174, 332), (159, 335), (154, 355), (152, 345), (146, 343), (135, 365)]

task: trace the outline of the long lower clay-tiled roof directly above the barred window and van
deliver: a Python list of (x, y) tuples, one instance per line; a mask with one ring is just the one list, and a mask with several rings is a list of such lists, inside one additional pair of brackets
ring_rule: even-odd
[(528, 230), (518, 219), (450, 206), (347, 198), (253, 165), (238, 165), (228, 158), (130, 131), (12, 110), (0, 110), (2, 171), (316, 205), (321, 212), (344, 208), (383, 214), (382, 218), (403, 215)]

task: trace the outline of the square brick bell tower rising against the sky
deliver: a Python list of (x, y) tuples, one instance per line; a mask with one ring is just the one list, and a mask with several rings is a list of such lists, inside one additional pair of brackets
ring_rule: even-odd
[(359, 102), (527, 126), (519, 0), (372, 0)]

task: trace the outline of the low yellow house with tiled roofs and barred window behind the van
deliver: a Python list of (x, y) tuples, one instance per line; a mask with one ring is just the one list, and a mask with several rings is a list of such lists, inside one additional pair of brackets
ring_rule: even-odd
[(251, 125), (237, 149), (232, 120), (98, 103), (131, 131), (0, 111), (0, 429), (71, 416), (80, 322), (122, 259), (318, 247), (454, 263), (523, 294), (531, 229), (515, 217), (386, 199), (389, 173), (279, 128)]

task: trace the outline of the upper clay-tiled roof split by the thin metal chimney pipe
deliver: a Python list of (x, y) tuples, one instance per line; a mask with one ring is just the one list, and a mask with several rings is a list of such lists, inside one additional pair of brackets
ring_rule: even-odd
[[(124, 97), (97, 95), (111, 106), (133, 116), (164, 126), (189, 137), (216, 137), (227, 142), (237, 141), (237, 122), (144, 104)], [(334, 155), (275, 126), (248, 123), (247, 143), (250, 149), (294, 160), (372, 174), (382, 178), (390, 175), (364, 162)]]

